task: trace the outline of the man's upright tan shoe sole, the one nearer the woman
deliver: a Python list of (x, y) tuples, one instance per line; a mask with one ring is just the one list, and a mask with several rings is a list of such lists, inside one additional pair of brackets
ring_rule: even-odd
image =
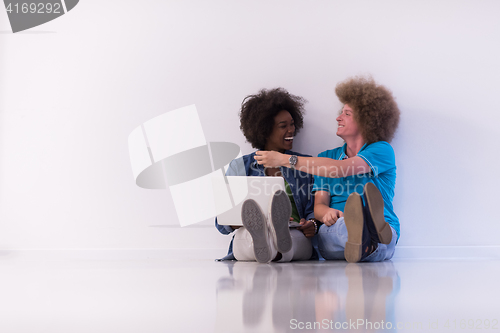
[(347, 243), (344, 257), (348, 262), (359, 262), (363, 243), (363, 202), (358, 193), (349, 195), (344, 208), (344, 222), (347, 228)]

